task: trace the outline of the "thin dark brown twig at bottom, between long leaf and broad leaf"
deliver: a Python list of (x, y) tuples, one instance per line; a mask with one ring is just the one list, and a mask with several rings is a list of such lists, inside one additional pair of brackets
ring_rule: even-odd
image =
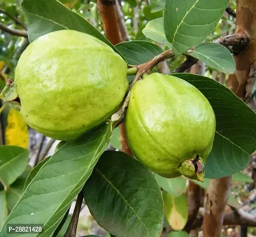
[(83, 195), (81, 191), (78, 194), (78, 198), (76, 199), (75, 209), (73, 211), (71, 223), (69, 223), (69, 228), (66, 231), (64, 237), (76, 237), (76, 228), (78, 225), (78, 219), (79, 219), (79, 214), (82, 206), (82, 200), (83, 200)]

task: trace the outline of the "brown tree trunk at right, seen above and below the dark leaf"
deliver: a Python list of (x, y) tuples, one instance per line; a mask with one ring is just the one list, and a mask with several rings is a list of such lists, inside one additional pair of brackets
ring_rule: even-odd
[[(228, 88), (245, 100), (249, 72), (256, 59), (256, 1), (236, 0), (236, 34), (249, 37), (249, 46), (234, 49), (235, 73), (229, 75)], [(203, 220), (205, 237), (219, 237), (221, 234), (225, 206), (228, 202), (231, 176), (211, 180), (207, 190), (206, 212)]]

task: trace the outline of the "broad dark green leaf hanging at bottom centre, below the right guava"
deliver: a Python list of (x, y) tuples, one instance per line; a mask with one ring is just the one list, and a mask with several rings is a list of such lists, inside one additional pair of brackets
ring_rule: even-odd
[(159, 236), (163, 225), (161, 190), (151, 172), (123, 152), (101, 156), (84, 186), (95, 220), (115, 236)]

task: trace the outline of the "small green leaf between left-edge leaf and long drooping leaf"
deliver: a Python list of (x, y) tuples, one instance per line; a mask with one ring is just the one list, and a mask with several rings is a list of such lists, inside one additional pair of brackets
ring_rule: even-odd
[(13, 184), (7, 187), (7, 190), (6, 190), (7, 207), (10, 212), (14, 208), (18, 200), (20, 199), (21, 194), (23, 193), (24, 184), (25, 184), (25, 179), (18, 178), (17, 180), (15, 180)]

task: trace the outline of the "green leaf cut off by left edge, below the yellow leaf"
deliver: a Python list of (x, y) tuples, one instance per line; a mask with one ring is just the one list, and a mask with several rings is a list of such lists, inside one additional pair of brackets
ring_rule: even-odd
[(23, 173), (28, 155), (28, 150), (20, 146), (0, 146), (0, 181), (5, 187)]

